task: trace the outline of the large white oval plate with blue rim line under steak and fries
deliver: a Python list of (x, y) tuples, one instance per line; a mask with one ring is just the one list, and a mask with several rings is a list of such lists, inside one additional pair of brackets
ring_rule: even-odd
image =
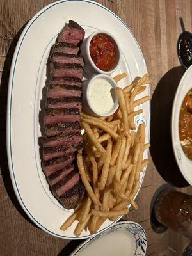
[[(38, 138), (42, 136), (40, 101), (46, 80), (47, 58), (57, 34), (69, 19), (83, 26), (86, 36), (96, 29), (105, 29), (118, 38), (123, 57), (115, 74), (128, 74), (120, 86), (124, 87), (135, 77), (143, 76), (147, 68), (140, 47), (124, 22), (92, 1), (63, 0), (46, 6), (29, 21), (19, 38), (8, 91), (7, 150), (13, 188), (24, 211), (38, 227), (54, 236), (77, 239), (73, 234), (76, 223), (65, 232), (60, 230), (72, 211), (63, 209), (49, 191), (41, 169), (38, 146)], [(149, 90), (147, 86), (141, 97), (150, 94)], [(142, 108), (143, 114), (136, 118), (136, 125), (145, 122), (146, 142), (149, 142), (150, 102), (145, 102)], [(148, 157), (148, 150), (144, 157)], [(140, 185), (144, 174), (141, 175)], [(106, 221), (99, 232), (110, 225), (112, 222)], [(90, 234), (84, 231), (79, 238), (88, 237)]]

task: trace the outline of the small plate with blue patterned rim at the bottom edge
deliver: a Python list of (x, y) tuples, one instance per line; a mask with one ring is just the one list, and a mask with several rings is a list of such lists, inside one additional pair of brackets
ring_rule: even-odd
[(80, 244), (70, 256), (145, 256), (147, 236), (145, 230), (132, 221), (120, 221), (108, 230)]

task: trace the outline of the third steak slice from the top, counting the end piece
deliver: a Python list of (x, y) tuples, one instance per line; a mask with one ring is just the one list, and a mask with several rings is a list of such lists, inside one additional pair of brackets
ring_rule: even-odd
[(50, 61), (63, 64), (79, 64), (84, 67), (83, 58), (74, 54), (56, 52), (51, 55)]

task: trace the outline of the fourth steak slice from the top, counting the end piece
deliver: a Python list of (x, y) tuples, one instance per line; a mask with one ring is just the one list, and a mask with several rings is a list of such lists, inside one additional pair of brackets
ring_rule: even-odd
[(79, 64), (51, 63), (52, 77), (77, 77), (83, 79), (83, 68)]

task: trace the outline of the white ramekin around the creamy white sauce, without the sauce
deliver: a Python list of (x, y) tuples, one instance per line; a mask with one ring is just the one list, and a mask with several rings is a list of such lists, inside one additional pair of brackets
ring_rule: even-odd
[(113, 115), (113, 113), (115, 113), (116, 109), (118, 109), (118, 95), (116, 93), (116, 90), (114, 90), (115, 102), (114, 102), (113, 108), (108, 113), (99, 113), (95, 109), (92, 108), (92, 104), (89, 99), (89, 90), (90, 90), (90, 84), (92, 84), (92, 82), (97, 78), (106, 79), (111, 84), (113, 89), (118, 87), (117, 83), (115, 82), (115, 80), (113, 78), (109, 77), (108, 75), (104, 75), (104, 74), (99, 74), (97, 76), (93, 76), (92, 79), (88, 79), (88, 80), (84, 81), (83, 85), (82, 85), (82, 90), (83, 90), (82, 107), (83, 107), (83, 110), (86, 113), (89, 113), (90, 115), (94, 115), (94, 116)]

